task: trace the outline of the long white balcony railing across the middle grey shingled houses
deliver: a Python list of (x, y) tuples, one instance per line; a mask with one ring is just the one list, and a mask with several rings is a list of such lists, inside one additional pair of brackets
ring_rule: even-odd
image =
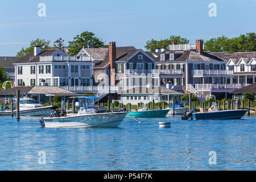
[(181, 75), (180, 69), (127, 69), (125, 75)]

